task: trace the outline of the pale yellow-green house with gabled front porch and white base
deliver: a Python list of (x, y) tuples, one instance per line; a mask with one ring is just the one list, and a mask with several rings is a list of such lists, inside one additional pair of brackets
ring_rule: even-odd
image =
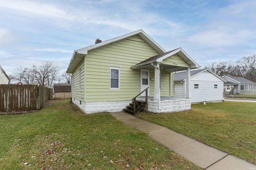
[(174, 71), (194, 68), (199, 65), (183, 49), (166, 52), (140, 29), (75, 50), (66, 72), (72, 73), (72, 102), (85, 113), (122, 111), (146, 88), (148, 111), (160, 113), (191, 108), (190, 88), (173, 98), (172, 84)]

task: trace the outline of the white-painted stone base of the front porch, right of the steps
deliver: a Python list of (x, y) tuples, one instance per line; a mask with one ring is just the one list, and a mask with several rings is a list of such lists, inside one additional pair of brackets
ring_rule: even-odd
[[(145, 101), (145, 99), (136, 98), (136, 101)], [(148, 100), (148, 111), (152, 113), (169, 113), (191, 109), (191, 99), (171, 99), (161, 100), (160, 109), (157, 100)]]

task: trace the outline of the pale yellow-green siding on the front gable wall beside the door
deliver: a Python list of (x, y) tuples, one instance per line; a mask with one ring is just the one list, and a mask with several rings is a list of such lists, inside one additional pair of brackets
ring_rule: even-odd
[[(132, 70), (130, 67), (154, 55), (158, 53), (137, 35), (88, 51), (86, 102), (112, 102), (134, 98), (140, 93), (140, 69)], [(110, 90), (110, 66), (120, 67), (120, 90)], [(150, 87), (150, 95), (151, 90)]]

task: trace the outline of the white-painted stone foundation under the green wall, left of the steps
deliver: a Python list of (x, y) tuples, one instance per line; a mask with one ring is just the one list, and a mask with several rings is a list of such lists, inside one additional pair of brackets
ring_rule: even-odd
[(115, 102), (82, 102), (80, 100), (72, 98), (72, 102), (76, 104), (86, 114), (100, 113), (100, 112), (117, 112), (123, 111), (126, 106), (132, 103), (132, 100), (115, 101)]

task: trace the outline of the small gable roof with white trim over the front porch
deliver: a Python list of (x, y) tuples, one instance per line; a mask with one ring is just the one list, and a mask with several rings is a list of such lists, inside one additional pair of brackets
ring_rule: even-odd
[(132, 69), (139, 68), (140, 66), (144, 66), (150, 63), (161, 63), (164, 59), (174, 54), (178, 54), (180, 58), (186, 61), (186, 63), (188, 63), (191, 66), (191, 69), (200, 67), (182, 48), (178, 48), (160, 55), (150, 57), (149, 59), (146, 59), (134, 66), (131, 66), (131, 68)]

